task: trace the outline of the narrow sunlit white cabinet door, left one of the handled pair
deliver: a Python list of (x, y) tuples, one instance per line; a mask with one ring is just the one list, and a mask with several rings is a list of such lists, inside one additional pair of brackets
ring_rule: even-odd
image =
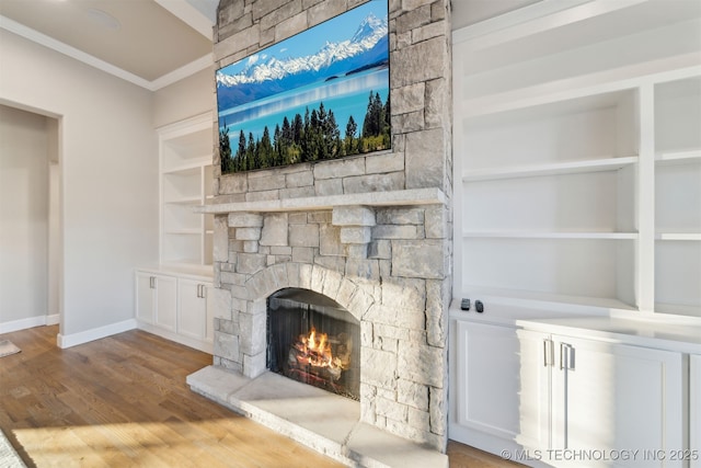
[(516, 442), (532, 449), (548, 449), (551, 421), (553, 342), (549, 334), (518, 331), (520, 368), (519, 435)]

